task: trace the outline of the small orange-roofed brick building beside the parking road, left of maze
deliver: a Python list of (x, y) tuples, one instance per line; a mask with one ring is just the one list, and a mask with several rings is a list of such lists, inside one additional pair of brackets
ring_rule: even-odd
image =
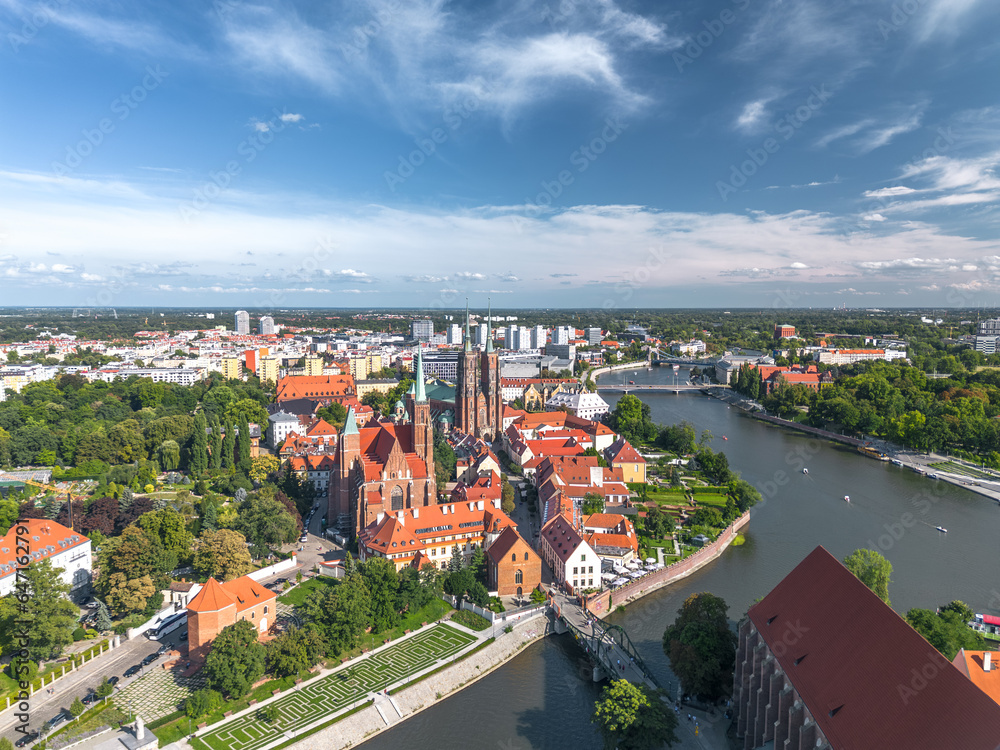
[(249, 620), (257, 637), (274, 623), (277, 595), (250, 576), (219, 583), (214, 578), (188, 602), (188, 655), (204, 659), (215, 636), (240, 620)]

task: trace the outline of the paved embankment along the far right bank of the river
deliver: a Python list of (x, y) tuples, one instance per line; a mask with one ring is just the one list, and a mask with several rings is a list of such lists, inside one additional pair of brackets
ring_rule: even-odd
[[(791, 422), (787, 419), (781, 419), (779, 417), (772, 417), (768, 414), (763, 414), (759, 411), (759, 405), (756, 402), (747, 401), (731, 391), (710, 388), (706, 389), (705, 393), (713, 398), (719, 399), (720, 401), (725, 401), (731, 406), (736, 406), (753, 419), (773, 424), (776, 427), (782, 427), (788, 430), (797, 430), (798, 432), (805, 433), (806, 435), (812, 435), (814, 437), (829, 440), (835, 443), (850, 445), (855, 448), (860, 448), (865, 445), (865, 443), (858, 438), (848, 437), (847, 435), (838, 435), (837, 433), (830, 432), (829, 430), (821, 430), (818, 427), (810, 427), (809, 425), (803, 425), (798, 422)], [(990, 500), (1000, 503), (1000, 480), (990, 481), (988, 479), (979, 479), (974, 481), (967, 475), (949, 472), (947, 469), (934, 466), (934, 464), (955, 461), (948, 456), (941, 456), (936, 453), (919, 453), (917, 451), (902, 448), (887, 441), (878, 441), (878, 445), (879, 449), (888, 457), (885, 460), (891, 460), (897, 466), (910, 469), (911, 471), (926, 476), (929, 479), (948, 482), (956, 487), (961, 487), (962, 489), (969, 490), (969, 492), (974, 492), (977, 495), (988, 497)], [(867, 453), (859, 452), (859, 455), (866, 456), (867, 458), (871, 458), (876, 461), (882, 460)]]

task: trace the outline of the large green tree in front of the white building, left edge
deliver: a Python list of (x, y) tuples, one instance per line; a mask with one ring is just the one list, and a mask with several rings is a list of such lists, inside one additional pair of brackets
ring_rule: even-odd
[[(16, 646), (31, 661), (43, 662), (73, 642), (77, 609), (61, 574), (48, 558), (18, 572), (17, 588), (0, 599), (0, 651), (10, 653)], [(15, 634), (22, 636), (17, 642)]]

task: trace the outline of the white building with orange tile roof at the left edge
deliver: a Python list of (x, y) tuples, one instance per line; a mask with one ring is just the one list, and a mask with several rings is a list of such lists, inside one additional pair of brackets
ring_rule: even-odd
[[(27, 528), (24, 533), (23, 528)], [(18, 530), (21, 529), (21, 533)], [(21, 549), (18, 549), (21, 545)], [(27, 547), (27, 551), (24, 550)], [(17, 558), (27, 555), (29, 565), (51, 560), (52, 567), (62, 570), (63, 583), (70, 594), (83, 594), (91, 582), (92, 557), (90, 539), (60, 523), (44, 518), (29, 518), (15, 523), (0, 539), (0, 596), (15, 589)]]

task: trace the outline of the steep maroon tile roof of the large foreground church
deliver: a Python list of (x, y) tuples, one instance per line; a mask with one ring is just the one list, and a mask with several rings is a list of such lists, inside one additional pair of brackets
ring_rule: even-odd
[(1000, 743), (1000, 706), (822, 547), (749, 617), (834, 748)]

